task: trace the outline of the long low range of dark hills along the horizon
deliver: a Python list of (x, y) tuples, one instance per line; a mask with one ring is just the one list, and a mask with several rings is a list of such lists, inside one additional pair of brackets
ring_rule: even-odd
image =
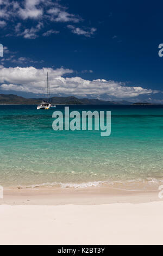
[[(18, 105), (37, 105), (43, 98), (39, 99), (26, 99), (15, 94), (0, 94), (0, 105), (2, 104), (18, 104)], [(145, 102), (129, 102), (129, 101), (105, 101), (99, 99), (78, 99), (74, 96), (68, 97), (51, 97), (49, 100), (52, 104), (66, 104), (66, 105), (152, 105), (151, 103)]]

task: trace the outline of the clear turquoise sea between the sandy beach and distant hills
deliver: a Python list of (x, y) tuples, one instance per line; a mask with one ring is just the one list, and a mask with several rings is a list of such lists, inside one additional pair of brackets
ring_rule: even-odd
[[(64, 112), (65, 105), (56, 110)], [(0, 185), (100, 186), (163, 180), (163, 106), (70, 106), (111, 111), (111, 136), (54, 131), (52, 109), (0, 106)]]

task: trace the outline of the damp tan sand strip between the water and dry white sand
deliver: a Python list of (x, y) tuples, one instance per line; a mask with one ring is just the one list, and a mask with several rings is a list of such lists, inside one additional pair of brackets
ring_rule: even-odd
[(4, 188), (0, 205), (102, 205), (161, 202), (158, 191), (129, 191), (108, 187)]

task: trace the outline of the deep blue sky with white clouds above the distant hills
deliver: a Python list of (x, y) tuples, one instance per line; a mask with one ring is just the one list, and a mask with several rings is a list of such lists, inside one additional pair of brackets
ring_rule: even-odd
[[(163, 103), (162, 1), (0, 0), (0, 93)], [(163, 52), (163, 51), (162, 51)]]

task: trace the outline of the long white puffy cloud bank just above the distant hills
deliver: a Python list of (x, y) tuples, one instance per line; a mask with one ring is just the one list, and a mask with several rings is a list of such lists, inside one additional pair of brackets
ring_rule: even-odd
[(49, 73), (51, 93), (55, 95), (76, 95), (79, 97), (108, 97), (128, 98), (139, 95), (158, 93), (156, 90), (142, 87), (124, 86), (121, 82), (107, 81), (104, 79), (84, 80), (81, 77), (65, 77), (65, 74), (73, 73), (70, 69), (36, 69), (28, 68), (1, 68), (0, 89), (14, 90), (16, 92), (30, 92), (35, 94), (45, 93), (46, 74)]

